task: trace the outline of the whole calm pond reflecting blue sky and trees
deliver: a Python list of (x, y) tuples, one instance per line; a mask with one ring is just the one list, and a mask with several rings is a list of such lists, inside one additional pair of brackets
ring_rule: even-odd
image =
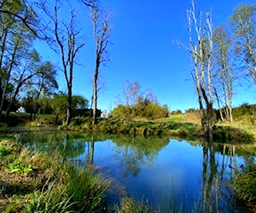
[(255, 153), (234, 145), (168, 137), (28, 133), (24, 146), (58, 152), (68, 161), (94, 164), (113, 180), (110, 203), (121, 196), (148, 202), (160, 212), (245, 212), (231, 182)]

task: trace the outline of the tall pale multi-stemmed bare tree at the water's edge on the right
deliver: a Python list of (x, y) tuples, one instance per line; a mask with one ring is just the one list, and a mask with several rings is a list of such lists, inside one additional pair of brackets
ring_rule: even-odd
[(194, 61), (192, 77), (195, 80), (204, 135), (212, 141), (212, 15), (200, 12), (197, 16), (194, 0), (191, 3), (192, 8), (187, 10), (187, 18), (189, 22), (188, 50)]

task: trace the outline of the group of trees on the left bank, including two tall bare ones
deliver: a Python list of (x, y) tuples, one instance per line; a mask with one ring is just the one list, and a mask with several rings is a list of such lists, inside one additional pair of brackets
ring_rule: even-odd
[[(78, 1), (79, 3), (79, 1)], [(84, 38), (77, 22), (78, 15), (92, 22), (96, 49), (96, 69), (93, 83), (93, 118), (96, 119), (98, 75), (102, 62), (108, 61), (107, 45), (110, 32), (110, 15), (96, 0), (82, 0), (84, 14), (76, 12), (75, 4), (59, 1), (2, 1), (0, 7), (0, 121), (8, 120), (10, 112), (24, 106), (34, 117), (38, 112), (60, 116), (66, 113), (66, 123), (82, 112), (73, 95), (73, 70), (78, 64), (79, 50)], [(68, 7), (70, 6), (70, 7)], [(90, 14), (87, 14), (88, 10)], [(63, 12), (65, 11), (65, 15)], [(83, 20), (84, 20), (83, 17)], [(82, 20), (80, 17), (79, 20)], [(48, 45), (57, 54), (60, 66), (44, 60), (35, 43)], [(94, 52), (94, 51), (93, 51)], [(67, 86), (65, 102), (57, 91), (57, 71), (63, 73)], [(63, 95), (62, 95), (63, 96)], [(74, 100), (73, 100), (74, 99)], [(79, 97), (80, 99), (80, 97)], [(56, 101), (57, 100), (57, 101)], [(58, 103), (56, 105), (55, 103)], [(4, 113), (3, 113), (4, 111)], [(74, 112), (73, 112), (74, 111)], [(87, 114), (87, 112), (85, 113)]]

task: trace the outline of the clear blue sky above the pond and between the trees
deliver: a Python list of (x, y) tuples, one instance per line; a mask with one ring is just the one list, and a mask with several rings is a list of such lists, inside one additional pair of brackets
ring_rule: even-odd
[[(73, 94), (90, 100), (95, 44), (88, 10), (78, 2), (74, 7), (79, 8), (77, 22), (81, 22), (86, 45), (79, 52), (81, 65), (74, 70)], [(227, 22), (241, 3), (253, 3), (253, 0), (195, 1), (197, 11), (212, 11), (213, 26)], [(111, 61), (101, 69), (105, 89), (99, 95), (98, 107), (107, 111), (113, 109), (122, 83), (128, 79), (140, 83), (142, 89), (151, 89), (160, 104), (167, 104), (171, 111), (198, 108), (189, 74), (189, 54), (173, 44), (173, 41), (188, 44), (186, 9), (190, 9), (189, 0), (102, 0), (102, 4), (113, 14), (110, 37), (113, 44), (108, 46)], [(45, 60), (61, 66), (60, 55), (55, 55), (45, 44), (38, 43), (38, 50)], [(59, 73), (58, 80), (60, 89), (67, 91), (63, 73)], [(235, 89), (234, 105), (256, 102), (254, 94), (255, 86)]]

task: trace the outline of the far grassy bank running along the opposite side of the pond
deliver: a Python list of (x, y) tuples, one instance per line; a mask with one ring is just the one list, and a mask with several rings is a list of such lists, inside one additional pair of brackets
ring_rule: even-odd
[[(99, 118), (95, 126), (90, 118), (75, 117), (72, 123), (55, 126), (52, 115), (38, 116), (31, 121), (27, 115), (13, 114), (15, 127), (0, 123), (1, 132), (29, 130), (75, 130), (87, 133), (108, 133), (124, 135), (169, 135), (177, 138), (203, 139), (199, 112), (187, 112), (170, 115), (168, 118), (118, 119)], [(251, 143), (256, 141), (256, 124), (253, 116), (239, 116), (233, 123), (217, 122), (213, 127), (214, 141), (228, 143)]]

